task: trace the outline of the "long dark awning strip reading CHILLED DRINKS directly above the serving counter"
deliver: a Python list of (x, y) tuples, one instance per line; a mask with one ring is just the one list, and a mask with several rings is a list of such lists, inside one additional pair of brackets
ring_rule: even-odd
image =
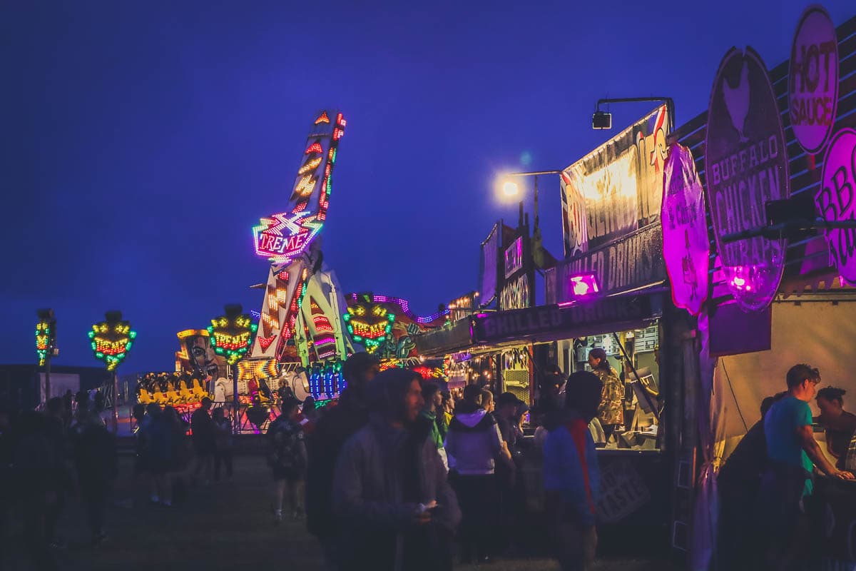
[(473, 342), (501, 347), (520, 341), (552, 342), (616, 330), (641, 329), (662, 317), (657, 294), (631, 294), (597, 300), (482, 313), (473, 318)]

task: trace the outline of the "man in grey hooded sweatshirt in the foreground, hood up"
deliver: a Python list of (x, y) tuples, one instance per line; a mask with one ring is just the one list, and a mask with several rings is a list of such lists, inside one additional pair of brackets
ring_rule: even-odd
[(371, 419), (342, 447), (333, 480), (342, 571), (451, 571), (461, 511), (437, 443), (416, 422), (419, 381), (405, 369), (379, 373)]

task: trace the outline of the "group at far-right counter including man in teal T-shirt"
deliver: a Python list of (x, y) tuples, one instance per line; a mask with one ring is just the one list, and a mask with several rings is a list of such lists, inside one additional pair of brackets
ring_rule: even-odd
[[(728, 456), (717, 478), (720, 520), (717, 568), (788, 571), (810, 566), (814, 473), (852, 480), (845, 459), (856, 431), (856, 415), (843, 408), (844, 390), (826, 387), (817, 368), (805, 364), (788, 370), (787, 390), (761, 403), (761, 419)], [(816, 399), (821, 415), (811, 416)], [(817, 443), (812, 425), (826, 431)], [(817, 518), (816, 518), (817, 519)]]

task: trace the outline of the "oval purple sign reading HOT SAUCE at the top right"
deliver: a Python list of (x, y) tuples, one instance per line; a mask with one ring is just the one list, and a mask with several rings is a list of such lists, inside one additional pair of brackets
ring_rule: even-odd
[(800, 146), (805, 152), (820, 152), (838, 110), (838, 36), (821, 6), (805, 9), (794, 34), (788, 109)]

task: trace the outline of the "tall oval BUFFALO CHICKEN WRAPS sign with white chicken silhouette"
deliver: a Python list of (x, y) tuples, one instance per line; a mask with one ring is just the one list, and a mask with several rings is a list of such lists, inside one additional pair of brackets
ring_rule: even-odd
[(732, 48), (719, 64), (710, 91), (704, 172), (728, 291), (743, 309), (763, 309), (782, 281), (785, 241), (723, 241), (765, 226), (766, 203), (790, 195), (782, 118), (767, 68), (752, 48)]

